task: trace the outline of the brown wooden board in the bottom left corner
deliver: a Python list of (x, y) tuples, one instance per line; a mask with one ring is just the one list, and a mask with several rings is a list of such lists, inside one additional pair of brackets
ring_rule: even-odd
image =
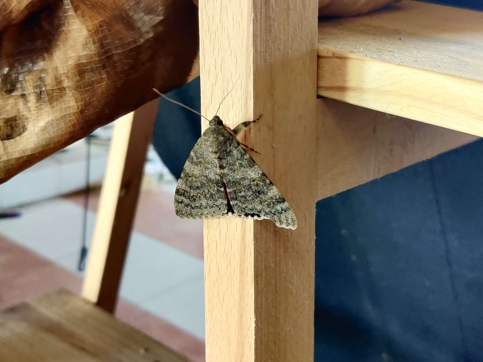
[(58, 291), (0, 312), (0, 361), (187, 360), (86, 300)]

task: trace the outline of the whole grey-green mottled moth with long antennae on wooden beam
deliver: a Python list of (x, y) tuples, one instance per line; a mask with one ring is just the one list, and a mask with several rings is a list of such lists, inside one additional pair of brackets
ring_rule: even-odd
[(237, 139), (261, 115), (254, 121), (242, 122), (231, 129), (217, 115), (220, 107), (209, 120), (154, 90), (161, 97), (199, 114), (209, 122), (186, 160), (176, 186), (176, 215), (184, 219), (227, 216), (269, 219), (279, 227), (297, 228), (295, 214), (284, 196), (243, 147), (256, 151)]

